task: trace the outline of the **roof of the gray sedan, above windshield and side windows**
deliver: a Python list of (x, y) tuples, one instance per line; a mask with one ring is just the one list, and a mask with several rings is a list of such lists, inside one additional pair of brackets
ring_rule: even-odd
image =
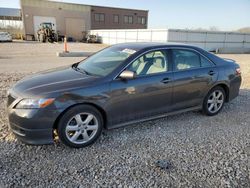
[(183, 44), (183, 43), (160, 43), (160, 42), (128, 42), (115, 44), (114, 47), (118, 48), (128, 48), (136, 51), (140, 51), (146, 48), (161, 48), (161, 47), (185, 47), (185, 48), (195, 48), (197, 47)]

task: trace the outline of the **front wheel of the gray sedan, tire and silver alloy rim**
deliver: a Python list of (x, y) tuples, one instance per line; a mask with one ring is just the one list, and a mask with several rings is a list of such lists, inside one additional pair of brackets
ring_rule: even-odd
[(63, 114), (57, 132), (63, 144), (82, 148), (93, 144), (100, 137), (102, 129), (101, 113), (90, 105), (79, 105)]

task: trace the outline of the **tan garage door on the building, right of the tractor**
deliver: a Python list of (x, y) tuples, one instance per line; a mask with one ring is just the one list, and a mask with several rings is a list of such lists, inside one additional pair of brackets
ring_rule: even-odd
[(81, 40), (83, 38), (82, 32), (85, 31), (84, 19), (66, 18), (66, 36), (73, 37), (75, 40)]

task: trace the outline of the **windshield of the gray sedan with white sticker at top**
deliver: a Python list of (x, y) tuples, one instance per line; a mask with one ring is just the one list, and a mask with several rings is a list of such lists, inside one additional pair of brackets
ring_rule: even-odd
[(83, 60), (77, 68), (90, 75), (107, 76), (135, 52), (128, 48), (109, 47)]

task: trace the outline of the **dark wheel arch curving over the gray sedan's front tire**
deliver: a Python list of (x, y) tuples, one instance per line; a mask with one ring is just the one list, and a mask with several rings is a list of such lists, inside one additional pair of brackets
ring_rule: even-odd
[(107, 114), (106, 112), (104, 111), (103, 108), (101, 108), (100, 106), (94, 104), (94, 103), (88, 103), (88, 102), (84, 102), (84, 103), (77, 103), (77, 104), (73, 104), (71, 106), (69, 106), (68, 108), (66, 108), (64, 111), (62, 111), (59, 116), (56, 118), (54, 124), (53, 124), (53, 129), (56, 129), (57, 126), (58, 126), (58, 122), (60, 120), (60, 118), (68, 111), (70, 110), (71, 108), (75, 107), (75, 106), (79, 106), (79, 105), (89, 105), (89, 106), (92, 106), (94, 108), (96, 108), (102, 115), (102, 118), (103, 118), (103, 127), (105, 129), (107, 129)]

